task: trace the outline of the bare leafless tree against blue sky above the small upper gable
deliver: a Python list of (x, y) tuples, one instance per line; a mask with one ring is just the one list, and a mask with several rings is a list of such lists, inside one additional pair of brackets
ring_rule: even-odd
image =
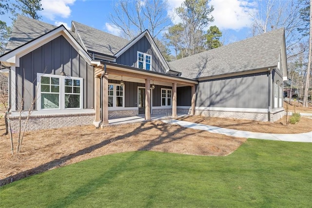
[(146, 29), (155, 38), (171, 23), (167, 7), (166, 0), (118, 0), (113, 13), (109, 14), (109, 20), (127, 39), (134, 38)]

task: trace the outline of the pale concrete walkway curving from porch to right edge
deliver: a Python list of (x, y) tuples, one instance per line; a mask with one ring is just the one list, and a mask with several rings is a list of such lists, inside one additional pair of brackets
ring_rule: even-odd
[[(166, 123), (165, 120), (163, 122)], [(257, 133), (251, 131), (241, 131), (229, 128), (221, 128), (212, 125), (195, 124), (192, 122), (185, 122), (179, 120), (173, 120), (173, 124), (183, 127), (194, 128), (198, 130), (205, 130), (212, 133), (224, 134), (234, 137), (254, 138), (264, 140), (286, 141), (286, 142), (309, 142), (312, 143), (312, 131), (301, 134), (269, 134), (269, 133)]]

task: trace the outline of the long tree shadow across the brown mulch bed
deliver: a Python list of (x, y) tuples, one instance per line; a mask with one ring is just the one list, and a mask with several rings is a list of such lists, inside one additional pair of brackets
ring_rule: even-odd
[[(53, 161), (42, 164), (42, 165), (37, 166), (35, 168), (28, 169), (28, 170), (22, 171), (20, 173), (17, 173), (15, 175), (8, 176), (4, 179), (1, 179), (0, 180), (0, 186), (4, 186), (6, 184), (12, 183), (13, 181), (20, 180), (20, 179), (25, 178), (27, 176), (31, 176), (31, 175), (35, 175), (35, 174), (38, 174), (41, 172), (45, 172), (45, 171), (52, 169), (52, 168), (55, 168), (55, 167), (60, 167), (65, 162), (67, 162), (73, 158), (76, 158), (76, 157), (84, 155), (84, 154), (91, 153), (96, 149), (99, 149), (103, 146), (107, 146), (107, 145), (111, 144), (112, 142), (124, 140), (127, 137), (132, 136), (134, 133), (138, 134), (138, 136), (139, 136), (139, 134), (143, 134), (145, 131), (155, 129), (155, 135), (158, 134), (156, 139), (153, 139), (152, 141), (149, 142), (149, 144), (142, 146), (142, 147), (137, 149), (138, 151), (141, 151), (141, 150), (150, 150), (154, 146), (174, 142), (176, 140), (182, 139), (185, 136), (194, 135), (194, 134), (199, 132), (199, 131), (196, 131), (196, 132), (188, 133), (188, 134), (183, 133), (183, 134), (181, 134), (181, 136), (177, 136), (180, 132), (182, 132), (185, 129), (184, 127), (179, 127), (179, 128), (176, 128), (176, 130), (169, 132), (169, 128), (167, 128), (167, 125), (156, 125), (155, 123), (151, 122), (150, 126), (144, 126), (145, 123), (146, 122), (141, 123), (137, 128), (134, 128), (134, 130), (129, 132), (129, 133), (119, 135), (113, 139), (108, 138), (108, 139), (103, 140), (102, 142), (100, 142), (96, 145), (88, 146), (86, 148), (78, 150), (75, 153), (71, 153), (71, 154), (62, 156), (59, 159), (55, 159)], [(122, 125), (120, 126), (120, 130), (122, 131)], [(102, 132), (102, 133), (104, 133), (104, 132)]]

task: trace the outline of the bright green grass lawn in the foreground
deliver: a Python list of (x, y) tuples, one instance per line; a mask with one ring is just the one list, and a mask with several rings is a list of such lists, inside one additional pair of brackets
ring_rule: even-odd
[(312, 144), (249, 139), (227, 157), (139, 151), (0, 187), (0, 207), (311, 207)]

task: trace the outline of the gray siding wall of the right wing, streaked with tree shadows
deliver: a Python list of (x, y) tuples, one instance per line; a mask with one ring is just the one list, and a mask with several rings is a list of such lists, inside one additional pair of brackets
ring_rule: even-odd
[(268, 72), (200, 81), (196, 107), (268, 108)]

